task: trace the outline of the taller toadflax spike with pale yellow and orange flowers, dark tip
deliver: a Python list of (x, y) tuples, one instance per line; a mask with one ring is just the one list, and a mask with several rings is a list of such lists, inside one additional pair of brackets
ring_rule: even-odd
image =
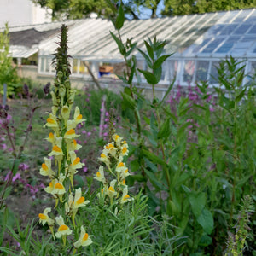
[[(61, 42), (54, 58), (56, 75), (54, 90), (51, 91), (53, 107), (44, 125), (52, 129), (49, 137), (46, 138), (52, 144), (52, 150), (48, 157), (44, 157), (44, 163), (40, 169), (41, 175), (49, 177), (49, 186), (44, 190), (55, 199), (57, 214), (55, 213), (55, 217), (52, 217), (53, 211), (47, 207), (43, 213), (39, 213), (38, 217), (41, 224), (49, 226), (53, 239), (62, 239), (63, 248), (73, 249), (74, 254), (79, 247), (89, 246), (92, 240), (82, 224), (79, 227), (76, 225), (79, 207), (85, 207), (89, 201), (85, 201), (81, 188), (73, 187), (73, 176), (79, 168), (84, 166), (76, 154), (81, 146), (76, 141), (79, 135), (76, 134), (75, 128), (85, 119), (82, 118), (78, 107), (75, 108), (71, 119), (75, 92), (70, 86), (68, 57), (67, 26), (63, 25)], [(50, 212), (52, 212), (51, 217)], [(79, 239), (75, 239), (78, 237)]]

